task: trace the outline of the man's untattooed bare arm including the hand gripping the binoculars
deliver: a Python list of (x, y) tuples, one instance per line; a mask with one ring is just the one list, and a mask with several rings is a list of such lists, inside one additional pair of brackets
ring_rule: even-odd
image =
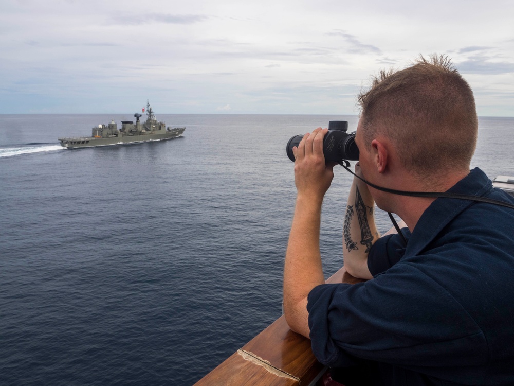
[(321, 204), (334, 178), (334, 166), (326, 165), (323, 156), (327, 131), (319, 127), (293, 147), (298, 195), (284, 266), (284, 313), (289, 327), (307, 338), (307, 295), (325, 282), (319, 246)]

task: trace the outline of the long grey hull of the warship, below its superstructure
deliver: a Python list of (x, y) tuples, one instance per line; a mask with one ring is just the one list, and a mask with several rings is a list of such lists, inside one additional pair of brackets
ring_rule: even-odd
[(97, 146), (112, 146), (112, 145), (123, 145), (132, 144), (138, 142), (152, 142), (152, 141), (163, 141), (166, 139), (173, 139), (182, 136), (182, 133), (186, 130), (185, 127), (170, 129), (164, 133), (156, 134), (141, 134), (141, 135), (123, 135), (123, 136), (112, 136), (107, 138), (97, 137), (73, 137), (73, 138), (58, 138), (61, 146), (66, 149), (79, 149), (86, 147), (97, 147)]

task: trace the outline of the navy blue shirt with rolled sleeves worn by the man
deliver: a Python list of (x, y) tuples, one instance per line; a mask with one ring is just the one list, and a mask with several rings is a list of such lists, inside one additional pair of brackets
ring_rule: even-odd
[[(449, 191), (514, 203), (478, 168)], [(376, 361), (381, 384), (514, 384), (514, 209), (437, 198), (403, 232), (373, 245), (372, 280), (309, 293), (318, 360)]]

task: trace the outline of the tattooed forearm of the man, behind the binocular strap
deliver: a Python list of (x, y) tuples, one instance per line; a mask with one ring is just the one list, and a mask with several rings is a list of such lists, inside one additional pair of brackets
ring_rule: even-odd
[(371, 279), (368, 254), (380, 237), (374, 218), (375, 202), (368, 187), (354, 178), (343, 224), (343, 259), (346, 271), (352, 276)]

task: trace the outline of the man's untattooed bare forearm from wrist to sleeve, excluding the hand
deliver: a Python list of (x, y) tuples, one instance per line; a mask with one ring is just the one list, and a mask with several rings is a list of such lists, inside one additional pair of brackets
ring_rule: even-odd
[(321, 202), (297, 198), (284, 266), (284, 313), (292, 330), (309, 336), (307, 295), (324, 284), (319, 248)]

